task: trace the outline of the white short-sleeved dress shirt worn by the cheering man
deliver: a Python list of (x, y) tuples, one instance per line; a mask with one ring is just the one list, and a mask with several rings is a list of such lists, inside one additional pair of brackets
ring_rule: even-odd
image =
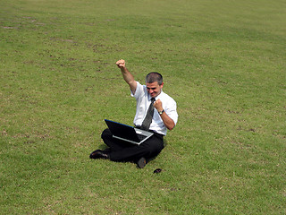
[[(136, 126), (141, 126), (147, 114), (147, 109), (150, 106), (151, 96), (147, 93), (146, 85), (141, 85), (139, 82), (137, 82), (135, 94), (131, 92), (131, 96), (137, 100), (136, 115), (134, 117), (133, 123)], [(176, 125), (178, 121), (178, 114), (177, 104), (175, 100), (165, 94), (163, 90), (161, 90), (161, 93), (155, 99), (160, 99), (162, 101), (162, 106), (164, 108), (165, 113), (170, 118), (172, 118), (174, 124)], [(164, 122), (158, 111), (156, 111), (156, 108), (149, 129), (155, 131), (156, 133), (161, 133), (164, 135), (167, 134), (167, 128), (164, 125)]]

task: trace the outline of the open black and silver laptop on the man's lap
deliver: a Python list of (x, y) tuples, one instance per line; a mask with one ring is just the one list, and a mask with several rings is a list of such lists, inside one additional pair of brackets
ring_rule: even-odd
[(145, 142), (149, 137), (154, 134), (138, 128), (134, 128), (130, 125), (124, 125), (108, 119), (105, 119), (105, 123), (108, 126), (110, 132), (113, 133), (114, 138), (125, 142), (131, 142), (137, 145), (141, 144), (142, 142)]

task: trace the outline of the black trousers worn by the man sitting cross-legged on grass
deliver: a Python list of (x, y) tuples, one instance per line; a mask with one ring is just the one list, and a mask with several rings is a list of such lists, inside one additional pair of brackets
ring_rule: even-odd
[[(152, 132), (152, 131), (150, 131)], [(154, 133), (154, 132), (153, 132)], [(109, 158), (113, 161), (138, 161), (140, 158), (152, 159), (164, 149), (164, 135), (154, 133), (145, 142), (135, 145), (113, 138), (109, 129), (105, 129), (101, 138), (110, 147)]]

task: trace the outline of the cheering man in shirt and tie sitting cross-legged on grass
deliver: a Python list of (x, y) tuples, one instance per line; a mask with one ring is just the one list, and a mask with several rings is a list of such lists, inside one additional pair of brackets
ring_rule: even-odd
[(177, 105), (170, 96), (163, 92), (164, 82), (160, 73), (148, 73), (146, 85), (141, 85), (134, 80), (124, 60), (119, 60), (116, 64), (121, 69), (124, 81), (130, 86), (131, 96), (137, 100), (134, 125), (154, 135), (147, 141), (135, 145), (113, 138), (109, 129), (105, 129), (101, 137), (109, 148), (95, 150), (89, 158), (131, 161), (136, 162), (139, 168), (144, 168), (148, 159), (156, 157), (163, 150), (163, 139), (167, 129), (172, 130), (178, 121)]

